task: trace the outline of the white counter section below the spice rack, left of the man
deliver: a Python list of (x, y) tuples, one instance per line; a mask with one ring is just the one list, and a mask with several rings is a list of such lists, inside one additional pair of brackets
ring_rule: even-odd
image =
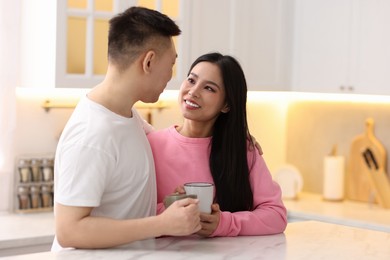
[(0, 215), (0, 250), (49, 244), (53, 238), (53, 212)]

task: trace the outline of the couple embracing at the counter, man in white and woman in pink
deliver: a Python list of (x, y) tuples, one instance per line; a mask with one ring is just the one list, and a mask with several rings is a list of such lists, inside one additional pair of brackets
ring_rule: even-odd
[[(234, 58), (211, 53), (192, 64), (180, 88), (179, 126), (153, 131), (133, 108), (158, 100), (180, 33), (167, 16), (142, 7), (110, 20), (106, 77), (80, 100), (56, 151), (53, 251), (284, 231), (281, 190), (250, 148), (247, 87)], [(163, 198), (188, 181), (215, 184), (211, 214), (199, 213), (191, 198), (163, 208)]]

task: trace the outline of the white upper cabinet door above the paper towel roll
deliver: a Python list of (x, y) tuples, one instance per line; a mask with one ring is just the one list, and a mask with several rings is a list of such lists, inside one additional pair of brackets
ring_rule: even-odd
[(340, 92), (350, 86), (352, 1), (296, 1), (292, 90)]

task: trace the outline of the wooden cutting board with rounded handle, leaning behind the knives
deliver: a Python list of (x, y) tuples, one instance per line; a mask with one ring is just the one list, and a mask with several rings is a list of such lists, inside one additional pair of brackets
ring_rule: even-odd
[(356, 136), (351, 144), (346, 176), (346, 195), (348, 199), (369, 202), (377, 201), (375, 187), (370, 179), (369, 167), (367, 167), (363, 153), (370, 149), (378, 165), (378, 169), (385, 174), (386, 150), (374, 135), (374, 120), (366, 120), (365, 132)]

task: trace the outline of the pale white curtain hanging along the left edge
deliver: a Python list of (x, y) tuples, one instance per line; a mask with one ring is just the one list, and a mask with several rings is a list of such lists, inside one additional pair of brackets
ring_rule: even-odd
[(0, 0), (0, 211), (12, 209), (21, 0)]

